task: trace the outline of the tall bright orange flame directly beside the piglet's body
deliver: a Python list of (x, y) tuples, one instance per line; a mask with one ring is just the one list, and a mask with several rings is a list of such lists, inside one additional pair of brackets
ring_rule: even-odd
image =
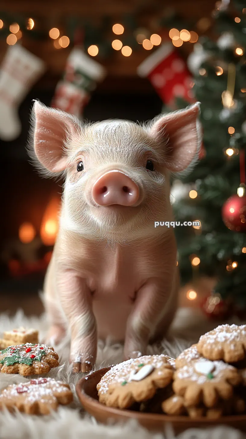
[(45, 212), (40, 227), (40, 237), (44, 245), (54, 245), (55, 238), (58, 232), (58, 214), (60, 209), (60, 198), (54, 197), (51, 199)]

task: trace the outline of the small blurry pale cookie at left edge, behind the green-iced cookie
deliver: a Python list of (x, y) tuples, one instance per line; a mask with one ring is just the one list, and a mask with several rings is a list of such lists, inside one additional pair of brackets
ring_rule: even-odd
[(4, 338), (0, 340), (2, 349), (22, 343), (38, 343), (38, 331), (32, 328), (20, 327), (12, 331), (5, 331)]

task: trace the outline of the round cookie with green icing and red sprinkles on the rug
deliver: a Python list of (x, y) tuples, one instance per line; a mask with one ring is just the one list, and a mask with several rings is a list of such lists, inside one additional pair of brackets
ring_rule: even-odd
[(25, 343), (0, 350), (0, 372), (5, 374), (44, 374), (59, 366), (51, 346)]

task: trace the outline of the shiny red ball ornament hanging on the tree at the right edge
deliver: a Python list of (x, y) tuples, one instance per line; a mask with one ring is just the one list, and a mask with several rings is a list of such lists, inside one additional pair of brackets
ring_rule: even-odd
[(228, 198), (222, 206), (222, 219), (228, 229), (246, 232), (246, 196)]

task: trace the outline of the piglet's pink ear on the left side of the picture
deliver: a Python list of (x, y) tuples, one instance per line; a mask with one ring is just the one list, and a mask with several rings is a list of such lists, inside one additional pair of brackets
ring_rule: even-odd
[(46, 176), (61, 173), (68, 162), (66, 142), (79, 132), (79, 123), (67, 113), (39, 101), (34, 102), (31, 122), (29, 155), (38, 159)]

